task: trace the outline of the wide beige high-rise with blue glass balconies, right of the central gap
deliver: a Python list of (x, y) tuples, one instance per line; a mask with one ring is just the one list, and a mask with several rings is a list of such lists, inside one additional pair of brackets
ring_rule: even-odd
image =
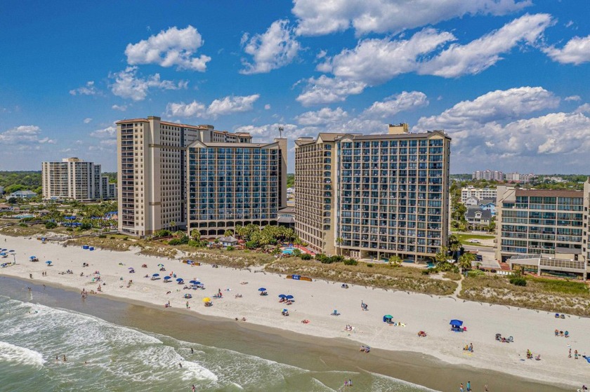
[(320, 133), (295, 142), (296, 232), (316, 252), (420, 260), (446, 245), (451, 139), (442, 131)]

